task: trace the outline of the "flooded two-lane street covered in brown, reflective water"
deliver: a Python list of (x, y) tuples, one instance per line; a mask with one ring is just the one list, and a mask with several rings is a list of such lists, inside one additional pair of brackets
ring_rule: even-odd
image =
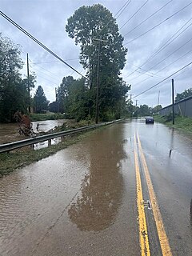
[[(135, 154), (143, 200), (153, 189), (142, 149), (170, 250), (192, 255), (192, 138), (142, 119), (95, 130), (0, 179), (0, 255), (140, 255)], [(145, 213), (150, 254), (162, 255), (153, 202)]]

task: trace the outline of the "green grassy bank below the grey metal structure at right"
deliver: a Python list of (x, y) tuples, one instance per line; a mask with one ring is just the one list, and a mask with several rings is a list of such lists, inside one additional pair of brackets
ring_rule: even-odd
[(176, 116), (174, 120), (174, 125), (172, 123), (172, 118), (168, 116), (154, 116), (154, 121), (165, 123), (167, 126), (172, 126), (178, 130), (186, 131), (192, 134), (192, 118), (186, 118), (181, 116)]

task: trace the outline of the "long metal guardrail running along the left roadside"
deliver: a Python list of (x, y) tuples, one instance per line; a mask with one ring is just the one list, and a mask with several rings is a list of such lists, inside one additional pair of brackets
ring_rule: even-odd
[(78, 132), (81, 132), (83, 130), (90, 130), (90, 129), (97, 128), (99, 126), (106, 126), (106, 125), (110, 125), (114, 122), (120, 122), (120, 121), (122, 121), (122, 119), (115, 120), (115, 121), (112, 121), (112, 122), (104, 122), (104, 123), (97, 124), (97, 125), (92, 125), (92, 126), (83, 126), (81, 128), (61, 131), (61, 132), (54, 133), (54, 134), (46, 134), (46, 135), (38, 136), (38, 137), (35, 137), (35, 138), (27, 138), (25, 140), (18, 141), (18, 142), (10, 142), (10, 143), (6, 143), (6, 144), (2, 144), (2, 145), (0, 145), (0, 153), (9, 152), (10, 150), (16, 150), (16, 149), (21, 148), (23, 146), (34, 145), (36, 143), (45, 142), (47, 140), (50, 141), (53, 138), (65, 137), (65, 136), (70, 135), (70, 134), (77, 134)]

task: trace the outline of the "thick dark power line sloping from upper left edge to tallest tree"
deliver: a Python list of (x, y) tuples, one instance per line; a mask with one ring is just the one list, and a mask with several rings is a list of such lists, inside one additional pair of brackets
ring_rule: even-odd
[[(52, 50), (47, 48), (45, 45), (42, 44), (42, 42), (39, 42), (38, 39), (34, 38), (30, 33), (28, 33), (26, 30), (22, 28), (22, 26), (19, 26), (16, 22), (14, 22), (11, 18), (9, 18), (6, 14), (4, 14), (2, 11), (0, 11), (0, 14), (3, 18), (6, 18), (6, 20), (10, 23), (12, 23), (14, 26), (18, 28), (18, 30), (21, 30), (22, 33), (26, 34), (29, 38), (31, 38), (34, 42), (38, 43), (39, 46), (42, 46), (42, 48), (46, 51), (48, 51), (50, 54), (52, 54), (55, 58), (58, 58), (58, 60), (62, 63), (64, 63), (66, 66), (69, 66), (70, 69), (74, 70), (76, 73), (80, 74), (83, 78), (86, 78), (84, 75), (78, 72), (78, 70), (75, 70), (73, 66), (70, 66), (68, 63), (66, 63), (62, 58), (58, 57), (57, 54), (54, 54)], [(86, 78), (88, 80), (88, 78)]]

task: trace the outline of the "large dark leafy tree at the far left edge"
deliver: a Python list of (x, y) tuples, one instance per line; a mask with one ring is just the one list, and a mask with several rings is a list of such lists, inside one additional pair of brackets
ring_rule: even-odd
[(0, 122), (13, 122), (14, 113), (27, 113), (30, 106), (28, 86), (34, 87), (34, 76), (22, 79), (20, 50), (8, 38), (0, 34)]

